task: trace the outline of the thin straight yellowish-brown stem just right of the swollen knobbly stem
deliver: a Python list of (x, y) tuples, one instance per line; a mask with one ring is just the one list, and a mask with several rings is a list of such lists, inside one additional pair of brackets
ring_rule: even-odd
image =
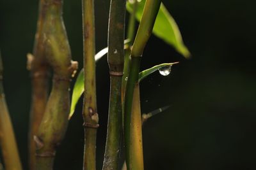
[(83, 0), (84, 41), (84, 165), (85, 170), (96, 169), (96, 137), (99, 127), (95, 85), (95, 24), (94, 1)]

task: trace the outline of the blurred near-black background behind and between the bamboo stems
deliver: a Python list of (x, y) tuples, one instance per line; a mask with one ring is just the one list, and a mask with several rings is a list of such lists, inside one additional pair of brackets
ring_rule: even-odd
[[(152, 36), (141, 70), (180, 61), (170, 76), (154, 73), (141, 83), (143, 113), (170, 105), (143, 128), (145, 169), (256, 169), (255, 1), (168, 1), (193, 57), (184, 59)], [(109, 1), (95, 1), (97, 51), (107, 45)], [(31, 85), (26, 53), (32, 52), (38, 2), (0, 0), (0, 48), (6, 100), (24, 169)], [(82, 63), (81, 1), (64, 2), (72, 57)], [(80, 68), (81, 68), (80, 64)], [(106, 58), (97, 63), (100, 116), (97, 160), (106, 138), (109, 76)], [(58, 149), (54, 169), (82, 169), (81, 101)]]

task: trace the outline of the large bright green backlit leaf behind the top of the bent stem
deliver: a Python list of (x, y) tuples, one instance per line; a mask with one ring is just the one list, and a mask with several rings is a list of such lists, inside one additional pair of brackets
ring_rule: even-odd
[[(138, 2), (136, 11), (136, 18), (138, 21), (141, 20), (145, 1), (146, 0), (141, 0)], [(127, 1), (126, 8), (127, 11), (132, 13), (132, 1)], [(158, 38), (163, 39), (169, 45), (173, 46), (175, 50), (184, 55), (184, 57), (188, 58), (190, 56), (188, 48), (183, 43), (178, 25), (176, 24), (172, 15), (170, 15), (168, 10), (165, 8), (163, 3), (161, 4), (160, 10), (156, 17), (153, 34), (155, 34)]]

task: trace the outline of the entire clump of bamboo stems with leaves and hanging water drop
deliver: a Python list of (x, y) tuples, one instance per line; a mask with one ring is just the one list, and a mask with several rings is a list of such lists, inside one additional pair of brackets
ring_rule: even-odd
[[(93, 0), (82, 0), (84, 62), (70, 100), (70, 80), (74, 77), (78, 64), (71, 59), (62, 18), (62, 4), (62, 0), (40, 0), (34, 50), (33, 54), (28, 54), (27, 67), (31, 71), (32, 84), (29, 169), (53, 168), (56, 148), (65, 137), (68, 120), (72, 118), (77, 101), (83, 94), (83, 169), (96, 169), (96, 136), (100, 113), (97, 111), (95, 62), (108, 53), (110, 78), (108, 134), (102, 169), (142, 170), (144, 169), (143, 122), (166, 110), (168, 106), (159, 106), (159, 109), (141, 115), (140, 81), (155, 71), (168, 76), (172, 66), (178, 64), (178, 62), (164, 63), (141, 71), (141, 59), (147, 59), (147, 56), (142, 57), (143, 50), (153, 33), (173, 46), (184, 57), (189, 57), (189, 51), (182, 41), (179, 28), (161, 0), (111, 0), (108, 47), (95, 54), (97, 42), (95, 42), (94, 10), (97, 7), (94, 6)], [(127, 39), (125, 39), (126, 11), (129, 11)], [(136, 20), (140, 22), (138, 30)], [(22, 166), (4, 101), (2, 73), (1, 62), (1, 151), (5, 169), (19, 170)], [(121, 153), (125, 153), (125, 160), (121, 159)]]

